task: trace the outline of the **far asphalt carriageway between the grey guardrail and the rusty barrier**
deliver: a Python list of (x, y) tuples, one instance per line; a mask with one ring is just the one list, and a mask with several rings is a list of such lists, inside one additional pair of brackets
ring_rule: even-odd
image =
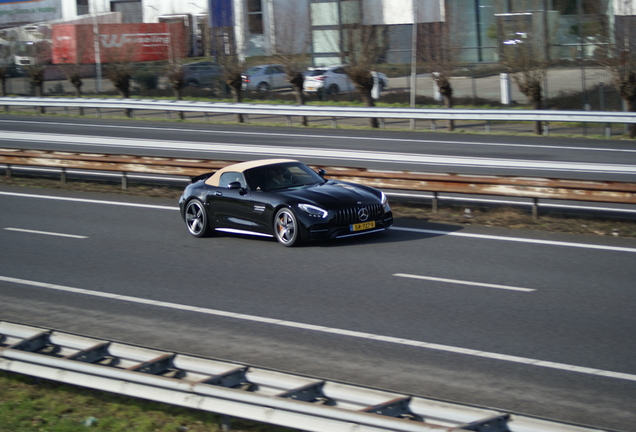
[(630, 141), (0, 116), (0, 147), (635, 181)]

